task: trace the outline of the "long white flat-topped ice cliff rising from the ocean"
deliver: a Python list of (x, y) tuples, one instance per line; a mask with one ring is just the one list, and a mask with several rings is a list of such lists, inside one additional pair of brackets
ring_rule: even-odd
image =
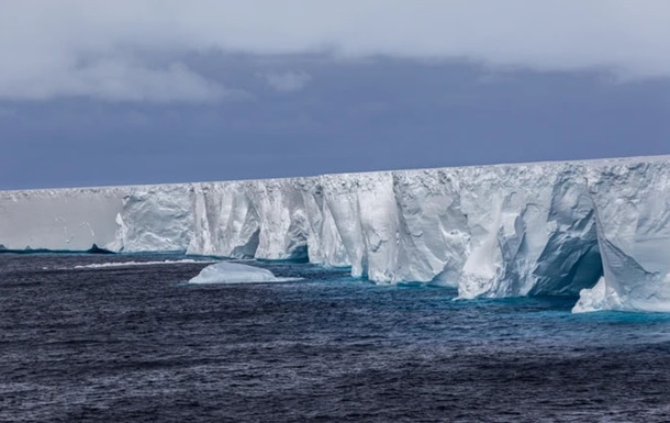
[(0, 192), (7, 248), (93, 243), (670, 311), (670, 157)]

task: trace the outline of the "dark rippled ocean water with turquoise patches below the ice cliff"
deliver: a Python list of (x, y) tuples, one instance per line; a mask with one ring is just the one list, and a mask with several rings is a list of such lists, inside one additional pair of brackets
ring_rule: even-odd
[(188, 286), (172, 256), (0, 255), (2, 422), (670, 421), (670, 316), (453, 301), (346, 270)]

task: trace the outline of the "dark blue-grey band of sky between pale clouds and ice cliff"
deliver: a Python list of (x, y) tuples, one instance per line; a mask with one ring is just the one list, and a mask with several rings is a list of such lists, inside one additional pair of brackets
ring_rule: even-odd
[[(670, 85), (662, 80), (317, 55), (186, 59), (254, 96), (203, 104), (5, 102), (2, 188), (670, 153)], [(259, 77), (290, 73), (310, 82), (280, 92)]]

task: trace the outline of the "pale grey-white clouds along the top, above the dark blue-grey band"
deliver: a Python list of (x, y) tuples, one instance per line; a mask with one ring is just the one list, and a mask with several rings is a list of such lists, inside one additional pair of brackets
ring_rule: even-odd
[[(670, 77), (666, 0), (0, 2), (4, 100), (212, 102), (230, 96), (186, 63), (190, 53), (387, 55)], [(309, 79), (266, 76), (279, 91), (301, 89)]]

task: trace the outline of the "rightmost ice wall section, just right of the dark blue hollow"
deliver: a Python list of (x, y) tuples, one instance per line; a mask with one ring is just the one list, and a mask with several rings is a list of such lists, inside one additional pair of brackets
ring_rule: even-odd
[(574, 311), (670, 311), (670, 164), (589, 169), (604, 278)]

